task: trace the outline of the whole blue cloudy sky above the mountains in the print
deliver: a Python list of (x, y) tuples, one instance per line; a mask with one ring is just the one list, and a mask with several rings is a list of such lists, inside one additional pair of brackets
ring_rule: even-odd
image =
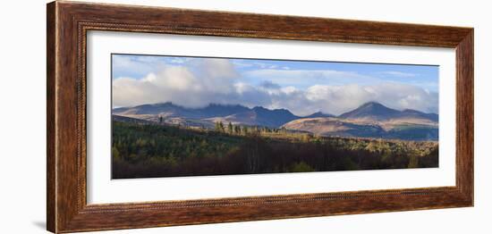
[(438, 66), (112, 55), (113, 106), (172, 102), (341, 114), (367, 102), (438, 113)]

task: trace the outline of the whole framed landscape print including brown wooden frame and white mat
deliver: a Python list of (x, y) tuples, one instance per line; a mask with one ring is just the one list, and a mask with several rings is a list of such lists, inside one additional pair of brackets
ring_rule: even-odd
[(473, 205), (473, 29), (47, 4), (47, 230)]

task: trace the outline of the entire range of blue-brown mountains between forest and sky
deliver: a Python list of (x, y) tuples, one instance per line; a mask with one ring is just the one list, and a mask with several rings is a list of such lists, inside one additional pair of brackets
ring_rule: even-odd
[(233, 125), (306, 131), (321, 136), (405, 140), (437, 140), (439, 118), (436, 113), (410, 109), (398, 111), (377, 102), (362, 104), (338, 116), (321, 112), (297, 116), (285, 109), (249, 108), (240, 104), (187, 108), (169, 102), (115, 108), (113, 115), (154, 122), (162, 118), (168, 124), (203, 128), (214, 128), (216, 121), (222, 121)]

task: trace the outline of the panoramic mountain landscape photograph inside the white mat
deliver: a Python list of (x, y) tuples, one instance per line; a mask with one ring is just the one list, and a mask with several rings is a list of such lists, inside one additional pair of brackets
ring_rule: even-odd
[(434, 65), (112, 54), (112, 179), (438, 167)]

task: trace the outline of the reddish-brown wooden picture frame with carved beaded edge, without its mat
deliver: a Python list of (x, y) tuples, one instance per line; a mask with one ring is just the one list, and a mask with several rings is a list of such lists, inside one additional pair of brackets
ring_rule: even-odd
[[(89, 30), (454, 48), (456, 185), (88, 205)], [(47, 4), (47, 230), (62, 233), (473, 205), (473, 29), (115, 4)]]

